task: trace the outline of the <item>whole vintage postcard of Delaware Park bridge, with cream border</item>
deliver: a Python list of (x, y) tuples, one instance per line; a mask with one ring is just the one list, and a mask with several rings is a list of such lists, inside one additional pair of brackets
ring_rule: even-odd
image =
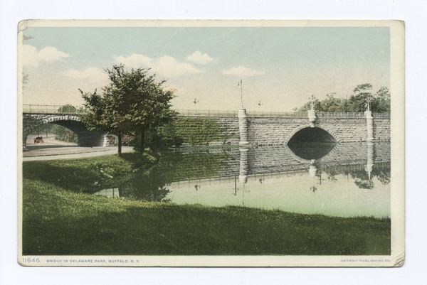
[(23, 266), (399, 267), (404, 22), (18, 26)]

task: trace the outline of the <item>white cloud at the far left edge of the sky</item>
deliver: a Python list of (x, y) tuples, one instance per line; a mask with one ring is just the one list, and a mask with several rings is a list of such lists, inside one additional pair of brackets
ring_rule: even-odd
[(22, 45), (22, 55), (23, 65), (33, 67), (38, 67), (43, 62), (63, 61), (65, 58), (70, 57), (68, 53), (51, 46), (37, 50), (33, 45)]

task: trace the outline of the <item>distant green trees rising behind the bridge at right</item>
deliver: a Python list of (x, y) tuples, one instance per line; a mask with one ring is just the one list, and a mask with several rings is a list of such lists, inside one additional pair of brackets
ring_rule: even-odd
[[(367, 109), (367, 100), (371, 101), (371, 111), (377, 113), (390, 112), (390, 92), (387, 87), (381, 87), (377, 92), (371, 92), (372, 85), (365, 83), (357, 85), (349, 98), (337, 98), (335, 93), (326, 95), (326, 99), (313, 101), (318, 112), (364, 112)], [(311, 101), (295, 108), (294, 111), (303, 112), (311, 109)]]

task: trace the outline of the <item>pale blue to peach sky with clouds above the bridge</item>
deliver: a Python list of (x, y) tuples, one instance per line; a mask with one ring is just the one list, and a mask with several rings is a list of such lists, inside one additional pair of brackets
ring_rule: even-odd
[(82, 104), (78, 89), (100, 90), (118, 63), (167, 80), (175, 109), (237, 109), (240, 80), (255, 111), (346, 97), (363, 83), (390, 87), (388, 27), (30, 26), (23, 36), (23, 104)]

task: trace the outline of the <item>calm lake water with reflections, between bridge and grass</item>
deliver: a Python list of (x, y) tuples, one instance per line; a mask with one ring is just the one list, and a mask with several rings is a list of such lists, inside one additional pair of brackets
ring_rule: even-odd
[(97, 195), (112, 198), (390, 217), (390, 145), (182, 148), (98, 187)]

